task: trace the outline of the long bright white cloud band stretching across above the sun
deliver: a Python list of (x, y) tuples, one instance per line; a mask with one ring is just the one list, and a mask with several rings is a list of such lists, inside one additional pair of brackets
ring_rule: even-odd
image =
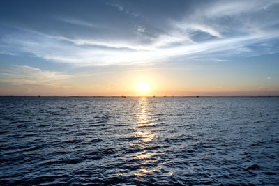
[[(5, 43), (13, 45), (15, 51), (28, 52), (34, 56), (73, 65), (132, 65), (157, 63), (176, 56), (205, 55), (214, 52), (225, 54), (251, 53), (252, 49), (246, 46), (254, 43), (267, 42), (278, 37), (278, 33), (268, 36), (244, 36), (239, 38), (226, 38), (208, 42), (193, 43), (187, 36), (160, 35), (154, 38), (151, 44), (140, 45), (133, 42), (112, 42), (94, 40), (75, 40), (56, 38), (32, 33), (32, 36), (6, 37)], [(68, 42), (67, 42), (68, 41)], [(69, 41), (74, 45), (70, 45)], [(178, 44), (180, 45), (171, 45)], [(91, 46), (88, 46), (91, 45)], [(95, 46), (94, 46), (95, 45)], [(100, 47), (102, 46), (102, 47)], [(104, 48), (105, 47), (105, 48)]]

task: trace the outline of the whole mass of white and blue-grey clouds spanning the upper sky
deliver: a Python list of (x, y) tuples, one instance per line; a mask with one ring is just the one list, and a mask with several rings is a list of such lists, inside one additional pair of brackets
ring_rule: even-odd
[[(55, 32), (24, 29), (1, 37), (0, 48), (13, 54), (27, 52), (42, 59), (78, 66), (151, 64), (195, 57), (207, 60), (208, 54), (214, 54), (211, 59), (216, 61), (232, 55), (271, 54), (278, 52), (276, 46), (266, 45), (279, 37), (274, 26), (279, 23), (278, 17), (270, 13), (276, 3), (278, 1), (213, 1), (195, 7), (191, 15), (186, 14), (181, 19), (160, 20), (157, 17), (158, 24), (156, 21), (152, 24), (142, 20), (136, 22), (138, 19), (132, 17), (128, 26), (123, 24), (127, 27), (119, 26), (117, 31), (121, 36), (112, 27), (102, 27), (106, 34), (98, 35), (94, 32), (66, 34), (67, 31), (54, 35), (50, 33)], [(126, 13), (119, 4), (108, 5)], [(60, 20), (94, 28), (103, 24), (74, 17)], [(107, 33), (110, 29), (114, 30)]]

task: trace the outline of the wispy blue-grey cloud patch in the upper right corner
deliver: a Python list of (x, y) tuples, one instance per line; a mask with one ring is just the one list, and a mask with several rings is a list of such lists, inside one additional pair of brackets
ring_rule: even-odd
[[(276, 8), (279, 1), (211, 1), (195, 7), (174, 26), (196, 34), (208, 33), (217, 38), (264, 34), (279, 23)], [(264, 10), (268, 6), (269, 11)], [(191, 31), (192, 30), (192, 31)]]

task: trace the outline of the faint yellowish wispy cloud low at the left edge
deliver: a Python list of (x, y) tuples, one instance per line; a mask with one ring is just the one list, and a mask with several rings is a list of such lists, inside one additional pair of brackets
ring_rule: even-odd
[(0, 81), (11, 84), (33, 84), (40, 86), (61, 87), (57, 83), (62, 79), (68, 79), (73, 75), (67, 75), (62, 72), (53, 72), (40, 70), (30, 66), (13, 65), (10, 68), (2, 68), (0, 70)]

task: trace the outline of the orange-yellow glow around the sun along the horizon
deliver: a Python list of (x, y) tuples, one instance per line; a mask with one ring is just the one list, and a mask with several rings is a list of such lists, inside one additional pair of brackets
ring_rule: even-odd
[[(24, 96), (257, 96), (278, 95), (272, 88), (259, 88), (255, 84), (247, 85), (244, 80), (227, 84), (218, 77), (202, 77), (183, 69), (142, 69), (127, 72), (110, 72), (93, 76), (69, 77), (68, 79), (47, 80), (41, 86), (26, 84), (3, 88), (0, 95)], [(272, 79), (265, 79), (271, 82)], [(32, 80), (33, 81), (33, 80)], [(34, 80), (35, 81), (35, 80)], [(264, 82), (264, 81), (263, 81)], [(271, 84), (272, 85), (272, 84)], [(275, 82), (273, 82), (275, 86)], [(17, 91), (15, 91), (17, 90)]]

